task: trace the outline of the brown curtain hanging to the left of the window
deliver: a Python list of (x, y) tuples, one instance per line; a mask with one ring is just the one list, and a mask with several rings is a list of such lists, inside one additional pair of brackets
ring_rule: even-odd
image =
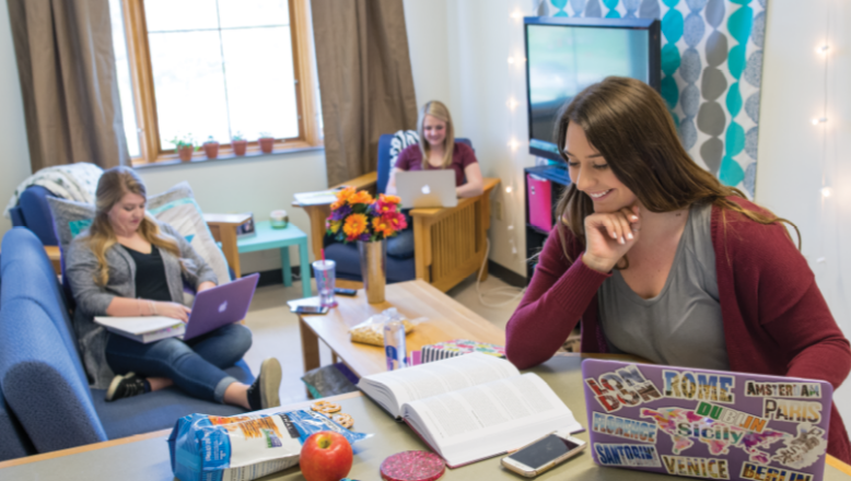
[(129, 161), (108, 0), (8, 0), (33, 172)]

